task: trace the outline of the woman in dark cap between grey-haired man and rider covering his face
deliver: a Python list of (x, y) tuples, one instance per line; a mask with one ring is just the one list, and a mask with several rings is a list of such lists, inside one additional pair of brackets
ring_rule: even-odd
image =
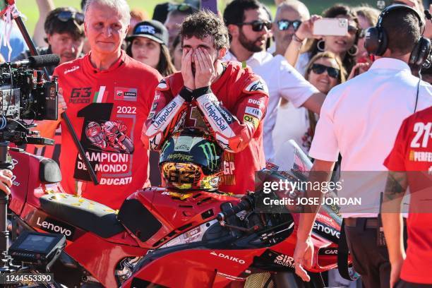
[(176, 71), (167, 48), (168, 30), (159, 21), (138, 23), (126, 40), (126, 54), (133, 59), (155, 68), (162, 76), (169, 76)]

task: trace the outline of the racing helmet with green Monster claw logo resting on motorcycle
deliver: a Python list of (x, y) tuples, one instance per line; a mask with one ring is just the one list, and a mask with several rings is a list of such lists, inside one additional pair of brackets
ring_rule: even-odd
[(223, 150), (200, 128), (176, 131), (162, 146), (159, 167), (168, 188), (215, 191)]

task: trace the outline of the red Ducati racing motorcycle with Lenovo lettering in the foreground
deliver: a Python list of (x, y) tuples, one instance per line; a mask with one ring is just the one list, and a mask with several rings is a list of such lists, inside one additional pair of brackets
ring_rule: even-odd
[[(152, 187), (133, 193), (116, 212), (65, 193), (54, 161), (19, 151), (11, 155), (17, 168), (11, 229), (66, 236), (52, 272), (68, 287), (258, 287), (262, 278), (270, 282), (269, 273), (277, 287), (305, 285), (294, 276), (292, 258), (299, 215), (258, 213), (253, 193), (239, 198)], [(287, 179), (311, 167), (294, 142), (275, 159), (284, 161), (269, 162), (265, 170), (290, 172), (277, 174)], [(318, 214), (312, 287), (323, 287), (320, 272), (337, 266), (341, 222), (335, 208), (324, 206)]]

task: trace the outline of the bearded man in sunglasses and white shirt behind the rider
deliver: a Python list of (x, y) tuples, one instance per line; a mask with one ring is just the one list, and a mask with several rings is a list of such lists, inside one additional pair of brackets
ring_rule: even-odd
[(273, 23), (259, 1), (232, 1), (224, 10), (224, 21), (231, 40), (224, 61), (241, 62), (261, 76), (270, 88), (263, 132), (265, 159), (268, 160), (275, 154), (272, 131), (281, 98), (292, 102), (296, 108), (306, 107), (318, 114), (325, 95), (290, 66), (284, 56), (272, 56), (265, 51)]

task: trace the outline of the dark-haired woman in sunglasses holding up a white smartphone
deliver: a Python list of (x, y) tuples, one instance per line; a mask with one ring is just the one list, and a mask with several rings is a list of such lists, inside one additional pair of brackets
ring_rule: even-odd
[[(323, 12), (323, 18), (347, 18), (348, 32), (344, 36), (323, 36), (320, 39), (313, 35), (313, 23), (320, 18), (312, 16), (311, 20), (302, 23), (299, 29), (294, 33), (293, 40), (285, 52), (285, 58), (289, 64), (295, 66), (301, 73), (305, 71), (309, 59), (318, 54), (318, 52), (330, 51), (336, 54), (342, 61), (344, 68), (348, 73), (356, 64), (356, 54), (359, 49), (359, 22), (354, 11), (345, 5), (336, 4)], [(306, 38), (309, 38), (308, 47), (304, 47)], [(305, 51), (300, 54), (300, 51)], [(300, 54), (300, 55), (299, 55)]]

